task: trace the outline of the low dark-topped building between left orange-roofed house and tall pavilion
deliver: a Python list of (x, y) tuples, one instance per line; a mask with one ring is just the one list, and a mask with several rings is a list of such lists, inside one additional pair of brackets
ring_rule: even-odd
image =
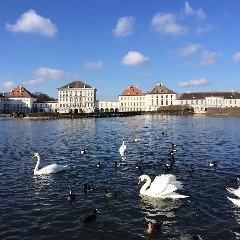
[(58, 112), (58, 100), (49, 97), (46, 94), (39, 93), (37, 100), (33, 104), (33, 112), (49, 112), (56, 113)]

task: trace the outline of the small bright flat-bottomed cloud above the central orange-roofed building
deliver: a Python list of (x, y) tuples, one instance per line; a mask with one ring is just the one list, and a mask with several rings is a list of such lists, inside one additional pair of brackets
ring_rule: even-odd
[(139, 52), (129, 51), (122, 59), (122, 65), (141, 66), (149, 64), (149, 58)]

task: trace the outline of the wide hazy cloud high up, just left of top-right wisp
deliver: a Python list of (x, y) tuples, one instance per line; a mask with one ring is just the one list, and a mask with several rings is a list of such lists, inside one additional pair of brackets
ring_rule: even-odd
[(187, 29), (176, 22), (172, 13), (157, 13), (151, 22), (151, 26), (157, 32), (179, 35), (187, 33)]

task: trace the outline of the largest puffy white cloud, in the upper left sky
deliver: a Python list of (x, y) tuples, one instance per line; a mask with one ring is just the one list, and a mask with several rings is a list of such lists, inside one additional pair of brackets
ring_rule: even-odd
[(48, 18), (44, 18), (31, 9), (23, 13), (16, 24), (6, 24), (6, 29), (12, 32), (39, 33), (53, 37), (57, 27)]

